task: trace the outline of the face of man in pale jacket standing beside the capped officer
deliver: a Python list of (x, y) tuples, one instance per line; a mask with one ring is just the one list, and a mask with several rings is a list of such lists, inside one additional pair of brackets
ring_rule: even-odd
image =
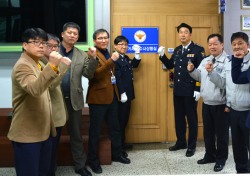
[(208, 40), (208, 49), (214, 57), (220, 55), (223, 52), (223, 48), (224, 44), (219, 41), (218, 37), (213, 37)]

